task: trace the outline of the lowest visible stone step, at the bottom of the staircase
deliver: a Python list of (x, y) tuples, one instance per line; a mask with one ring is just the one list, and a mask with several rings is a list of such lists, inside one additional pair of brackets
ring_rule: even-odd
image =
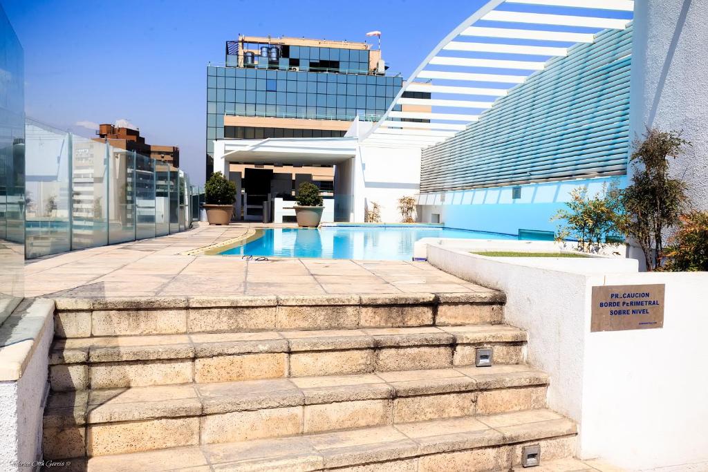
[(520, 465), (521, 450), (528, 444), (539, 444), (542, 464), (571, 458), (575, 435), (576, 425), (570, 420), (550, 410), (528, 410), (223, 444), (197, 445), (194, 437), (195, 444), (188, 447), (93, 457), (88, 468), (92, 472), (508, 471)]

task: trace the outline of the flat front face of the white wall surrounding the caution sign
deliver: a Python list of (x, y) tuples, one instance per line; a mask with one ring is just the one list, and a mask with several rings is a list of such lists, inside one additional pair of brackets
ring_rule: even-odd
[(586, 335), (583, 456), (627, 468), (708, 461), (708, 274), (593, 279), (598, 285), (666, 284), (666, 299), (661, 329)]

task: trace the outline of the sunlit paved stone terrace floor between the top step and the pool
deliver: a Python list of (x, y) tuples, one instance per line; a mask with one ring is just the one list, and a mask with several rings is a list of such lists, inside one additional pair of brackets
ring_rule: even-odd
[(25, 267), (25, 296), (489, 292), (421, 262), (307, 258), (255, 261), (239, 256), (183, 254), (244, 236), (253, 227), (265, 225), (200, 224), (170, 236), (31, 260)]

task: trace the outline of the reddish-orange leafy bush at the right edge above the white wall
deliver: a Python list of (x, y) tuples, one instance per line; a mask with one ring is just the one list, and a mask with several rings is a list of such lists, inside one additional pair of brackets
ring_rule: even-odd
[(669, 238), (663, 256), (665, 270), (708, 270), (708, 212), (690, 212), (680, 217), (678, 231)]

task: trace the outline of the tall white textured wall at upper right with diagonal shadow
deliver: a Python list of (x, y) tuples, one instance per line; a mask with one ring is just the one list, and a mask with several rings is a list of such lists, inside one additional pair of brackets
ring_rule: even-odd
[(683, 130), (692, 142), (670, 161), (695, 207), (708, 210), (708, 0), (634, 2), (630, 136)]

